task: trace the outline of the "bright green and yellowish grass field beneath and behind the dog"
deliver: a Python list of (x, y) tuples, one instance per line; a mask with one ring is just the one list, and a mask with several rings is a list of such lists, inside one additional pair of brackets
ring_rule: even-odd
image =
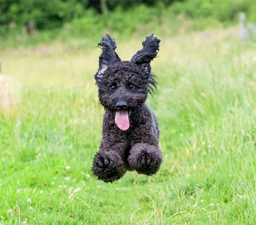
[[(2, 52), (21, 100), (0, 113), (0, 224), (255, 224), (256, 46), (237, 33), (155, 33), (158, 89), (147, 103), (163, 164), (112, 184), (90, 172), (104, 113), (93, 79), (100, 50), (56, 42)], [(116, 40), (120, 58), (144, 38)]]

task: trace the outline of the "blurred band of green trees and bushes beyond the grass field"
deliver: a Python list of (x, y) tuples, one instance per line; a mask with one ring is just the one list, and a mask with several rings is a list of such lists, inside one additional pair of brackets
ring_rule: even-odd
[(1, 49), (57, 40), (88, 48), (105, 33), (119, 41), (150, 32), (171, 37), (232, 26), (239, 12), (255, 23), (255, 7), (253, 0), (1, 0)]

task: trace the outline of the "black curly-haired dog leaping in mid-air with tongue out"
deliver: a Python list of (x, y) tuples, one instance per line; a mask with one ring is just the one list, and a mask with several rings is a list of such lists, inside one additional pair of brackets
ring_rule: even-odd
[(121, 178), (126, 170), (152, 175), (162, 163), (157, 119), (145, 103), (150, 85), (156, 84), (149, 63), (157, 56), (159, 43), (153, 34), (147, 36), (131, 61), (121, 61), (109, 35), (99, 43), (102, 53), (94, 78), (105, 114), (91, 171), (105, 182)]

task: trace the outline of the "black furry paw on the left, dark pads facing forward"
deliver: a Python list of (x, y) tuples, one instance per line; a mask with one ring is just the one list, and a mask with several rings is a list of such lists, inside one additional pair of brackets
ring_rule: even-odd
[(123, 161), (115, 152), (98, 152), (93, 158), (91, 171), (98, 179), (113, 182), (126, 172)]

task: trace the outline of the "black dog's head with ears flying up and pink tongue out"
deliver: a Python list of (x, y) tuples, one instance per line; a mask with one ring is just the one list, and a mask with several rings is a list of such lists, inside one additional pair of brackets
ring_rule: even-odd
[(99, 87), (99, 100), (110, 111), (116, 112), (115, 122), (121, 130), (130, 126), (129, 112), (145, 102), (156, 82), (150, 62), (157, 56), (160, 40), (152, 35), (142, 42), (131, 61), (121, 61), (115, 52), (116, 43), (106, 35), (99, 43), (99, 69), (94, 78)]

